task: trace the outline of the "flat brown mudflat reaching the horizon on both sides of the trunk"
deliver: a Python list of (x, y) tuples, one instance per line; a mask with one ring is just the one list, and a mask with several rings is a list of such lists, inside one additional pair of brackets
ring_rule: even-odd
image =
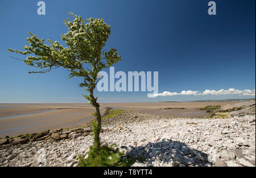
[[(196, 108), (231, 103), (233, 102), (103, 103), (101, 104), (101, 113), (104, 113), (106, 107), (156, 114), (162, 114), (163, 109), (159, 108), (163, 107), (189, 109), (178, 109), (175, 113), (167, 114), (182, 117), (184, 112), (189, 114)], [(0, 137), (40, 132), (47, 129), (84, 126), (92, 119), (92, 112), (94, 112), (94, 108), (86, 103), (0, 104)]]

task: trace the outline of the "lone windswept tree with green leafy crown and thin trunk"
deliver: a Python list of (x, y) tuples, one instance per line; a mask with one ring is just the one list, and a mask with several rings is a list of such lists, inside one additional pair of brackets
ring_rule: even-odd
[(94, 96), (93, 91), (98, 80), (98, 73), (106, 68), (112, 66), (121, 60), (117, 50), (110, 48), (107, 52), (102, 48), (110, 35), (110, 26), (104, 23), (104, 19), (86, 19), (88, 23), (81, 16), (74, 15), (73, 22), (67, 18), (64, 24), (69, 31), (61, 35), (61, 40), (65, 41), (68, 46), (65, 48), (60, 45), (59, 41), (53, 42), (47, 40), (49, 45), (44, 44), (44, 39), (40, 40), (36, 35), (28, 32), (30, 37), (27, 41), (30, 46), (23, 46), (25, 51), (8, 49), (10, 52), (15, 52), (27, 56), (24, 60), (27, 65), (40, 68), (39, 71), (29, 71), (28, 73), (47, 73), (58, 67), (68, 69), (71, 77), (83, 77), (84, 81), (80, 83), (80, 87), (85, 87), (89, 95), (84, 95), (89, 103), (96, 108), (93, 115), (97, 118), (97, 124), (94, 125), (94, 143), (96, 149), (100, 148), (100, 130), (101, 130), (101, 113), (100, 104), (97, 103), (97, 97)]

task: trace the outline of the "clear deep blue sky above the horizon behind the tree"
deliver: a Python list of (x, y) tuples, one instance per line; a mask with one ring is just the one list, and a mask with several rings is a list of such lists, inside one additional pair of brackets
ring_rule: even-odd
[[(115, 71), (158, 71), (159, 92), (255, 89), (255, 1), (215, 1), (217, 15), (208, 15), (205, 0), (174, 1), (0, 1), (0, 102), (86, 102), (68, 71), (46, 74), (10, 56), (7, 48), (22, 50), (28, 31), (40, 39), (61, 41), (68, 31), (68, 12), (84, 19), (104, 18), (112, 26), (106, 49), (116, 48), (125, 60)], [(62, 42), (61, 42), (62, 43)], [(64, 43), (62, 43), (64, 45)], [(109, 71), (106, 69), (105, 71)], [(101, 102), (187, 101), (255, 98), (243, 95), (175, 95), (147, 98), (148, 92), (98, 92)]]

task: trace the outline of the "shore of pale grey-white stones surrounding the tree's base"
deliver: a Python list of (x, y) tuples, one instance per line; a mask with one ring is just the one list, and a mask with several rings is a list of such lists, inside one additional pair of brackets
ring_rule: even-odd
[[(78, 155), (86, 156), (93, 143), (91, 131), (14, 138), (0, 147), (0, 166), (78, 166)], [(255, 166), (255, 115), (199, 119), (125, 112), (105, 118), (101, 141), (146, 160), (133, 166)]]

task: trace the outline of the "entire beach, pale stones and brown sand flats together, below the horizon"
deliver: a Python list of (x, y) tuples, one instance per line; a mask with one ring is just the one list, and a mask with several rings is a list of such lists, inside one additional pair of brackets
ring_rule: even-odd
[[(88, 156), (90, 105), (1, 107), (1, 132), (10, 137), (0, 140), (0, 166), (73, 167)], [(123, 160), (137, 158), (130, 166), (255, 166), (255, 100), (102, 103), (101, 109), (101, 144), (123, 152)]]

